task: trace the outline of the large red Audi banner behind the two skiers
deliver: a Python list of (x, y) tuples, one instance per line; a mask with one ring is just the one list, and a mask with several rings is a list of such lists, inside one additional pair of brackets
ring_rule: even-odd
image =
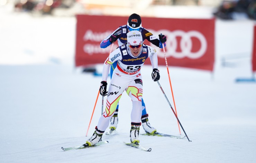
[[(76, 15), (75, 65), (103, 63), (110, 46), (100, 48), (100, 42), (128, 17)], [(169, 19), (142, 17), (142, 26), (154, 35), (166, 35), (166, 57), (169, 66), (180, 66), (213, 71), (215, 19)], [(144, 44), (157, 50), (158, 65), (165, 65), (163, 49), (145, 40)], [(113, 49), (118, 47), (115, 43)], [(150, 64), (149, 59), (145, 64)]]

